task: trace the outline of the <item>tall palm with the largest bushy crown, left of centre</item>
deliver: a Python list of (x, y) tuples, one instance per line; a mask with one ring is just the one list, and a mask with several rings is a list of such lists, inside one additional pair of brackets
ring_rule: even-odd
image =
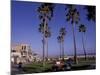
[(45, 32), (46, 26), (48, 25), (48, 21), (53, 17), (53, 8), (54, 5), (51, 3), (42, 3), (40, 7), (38, 7), (37, 11), (39, 13), (39, 19), (41, 21), (39, 26), (39, 31), (43, 35), (43, 66), (45, 66)]

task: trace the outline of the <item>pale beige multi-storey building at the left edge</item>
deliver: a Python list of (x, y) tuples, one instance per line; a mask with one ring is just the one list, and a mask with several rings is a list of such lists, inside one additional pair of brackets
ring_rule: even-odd
[(31, 47), (28, 44), (18, 44), (11, 47), (11, 62), (18, 64), (29, 63), (34, 59)]

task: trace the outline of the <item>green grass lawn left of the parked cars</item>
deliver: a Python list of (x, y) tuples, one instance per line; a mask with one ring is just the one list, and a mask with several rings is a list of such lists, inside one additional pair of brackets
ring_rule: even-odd
[(52, 65), (45, 63), (45, 66), (43, 66), (42, 63), (32, 63), (25, 65), (23, 67), (24, 72), (26, 73), (40, 73), (40, 72), (45, 72), (48, 69), (51, 69)]

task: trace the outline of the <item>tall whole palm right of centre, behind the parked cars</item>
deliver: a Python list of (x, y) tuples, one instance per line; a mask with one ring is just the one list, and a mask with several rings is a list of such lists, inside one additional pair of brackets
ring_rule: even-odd
[(76, 40), (75, 40), (75, 31), (74, 31), (74, 24), (78, 24), (79, 18), (79, 12), (73, 5), (67, 5), (66, 8), (66, 20), (70, 21), (72, 24), (72, 32), (73, 32), (73, 43), (74, 43), (74, 62), (77, 64), (77, 51), (76, 51)]

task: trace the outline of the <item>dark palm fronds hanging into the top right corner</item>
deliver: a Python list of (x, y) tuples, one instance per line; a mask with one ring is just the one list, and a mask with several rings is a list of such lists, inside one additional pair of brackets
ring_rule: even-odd
[(95, 6), (85, 6), (85, 9), (87, 11), (87, 19), (90, 21), (96, 20), (96, 7)]

